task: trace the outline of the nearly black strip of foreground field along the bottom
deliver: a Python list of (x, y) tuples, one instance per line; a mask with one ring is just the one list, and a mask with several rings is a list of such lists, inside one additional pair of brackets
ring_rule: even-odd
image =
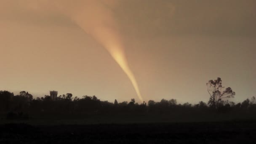
[(255, 144), (256, 122), (0, 125), (0, 144)]

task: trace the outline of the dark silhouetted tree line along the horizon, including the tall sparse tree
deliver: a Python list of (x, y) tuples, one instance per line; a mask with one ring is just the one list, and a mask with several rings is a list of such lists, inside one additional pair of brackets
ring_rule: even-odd
[(21, 91), (14, 95), (9, 91), (0, 91), (0, 113), (29, 113), (30, 114), (174, 114), (174, 113), (211, 113), (211, 112), (256, 112), (256, 98), (245, 99), (235, 104), (229, 101), (235, 96), (231, 88), (222, 86), (221, 78), (209, 80), (206, 84), (210, 95), (208, 103), (200, 101), (198, 104), (178, 104), (176, 99), (162, 99), (161, 101), (149, 100), (147, 103), (131, 101), (114, 103), (101, 101), (96, 96), (83, 96), (78, 98), (72, 93), (60, 95), (55, 101), (50, 96), (33, 98), (33, 96)]

